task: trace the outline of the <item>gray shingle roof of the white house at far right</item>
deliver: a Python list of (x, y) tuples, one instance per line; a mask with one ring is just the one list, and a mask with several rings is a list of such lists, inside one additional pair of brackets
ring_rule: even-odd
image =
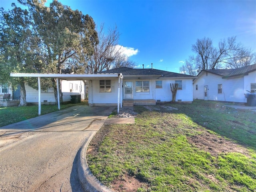
[(256, 64), (241, 67), (241, 68), (236, 68), (236, 69), (210, 69), (210, 70), (203, 70), (203, 71), (220, 75), (223, 78), (230, 78), (234, 76), (248, 75), (248, 73), (256, 71)]

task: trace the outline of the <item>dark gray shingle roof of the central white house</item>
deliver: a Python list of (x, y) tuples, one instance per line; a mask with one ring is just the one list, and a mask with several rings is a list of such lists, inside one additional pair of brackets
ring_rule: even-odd
[(133, 76), (133, 75), (146, 75), (146, 76), (159, 76), (159, 77), (165, 77), (165, 78), (175, 78), (175, 77), (194, 77), (190, 75), (180, 74), (180, 73), (174, 73), (174, 72), (168, 72), (158, 69), (134, 69), (134, 68), (128, 68), (128, 67), (120, 67), (120, 68), (114, 68), (106, 71), (102, 71), (100, 73), (122, 73), (123, 76)]

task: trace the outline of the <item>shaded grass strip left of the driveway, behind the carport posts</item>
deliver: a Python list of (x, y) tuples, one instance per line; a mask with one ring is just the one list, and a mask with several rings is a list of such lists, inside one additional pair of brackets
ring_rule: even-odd
[[(61, 104), (60, 109), (65, 109), (74, 105), (87, 105), (88, 102), (79, 104)], [(47, 114), (58, 110), (56, 105), (41, 105), (41, 114)], [(38, 116), (38, 105), (22, 107), (0, 107), (0, 127), (12, 123), (20, 122)]]

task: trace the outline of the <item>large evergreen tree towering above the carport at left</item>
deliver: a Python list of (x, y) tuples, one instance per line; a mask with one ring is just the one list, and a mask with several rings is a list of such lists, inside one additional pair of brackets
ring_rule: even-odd
[[(62, 73), (67, 66), (77, 66), (78, 63), (86, 68), (94, 46), (98, 44), (98, 36), (92, 17), (57, 0), (49, 7), (44, 6), (45, 0), (18, 2), (28, 10), (14, 4), (12, 10), (1, 10), (0, 80), (20, 84), (20, 105), (26, 105), (24, 83), (28, 80), (10, 79), (10, 72)], [(28, 82), (37, 87), (32, 80)], [(48, 80), (43, 82), (45, 87), (50, 86)], [(52, 83), (57, 102), (56, 79), (52, 79)]]

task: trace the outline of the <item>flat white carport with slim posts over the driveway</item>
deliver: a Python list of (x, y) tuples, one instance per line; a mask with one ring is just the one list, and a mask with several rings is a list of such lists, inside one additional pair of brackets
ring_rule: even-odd
[(119, 107), (122, 108), (120, 102), (120, 95), (122, 95), (122, 73), (112, 74), (44, 74), (44, 73), (10, 73), (11, 77), (37, 77), (38, 78), (38, 116), (41, 115), (41, 77), (56, 78), (57, 79), (57, 94), (58, 94), (58, 110), (60, 110), (60, 92), (59, 92), (59, 79), (61, 80), (104, 80), (105, 78), (118, 78), (118, 96), (117, 96), (117, 112)]

